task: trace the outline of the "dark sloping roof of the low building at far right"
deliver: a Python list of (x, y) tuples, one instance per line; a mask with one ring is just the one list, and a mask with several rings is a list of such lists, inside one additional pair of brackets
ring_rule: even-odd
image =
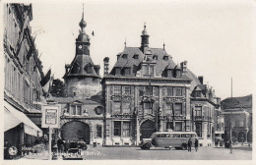
[(252, 94), (242, 97), (228, 97), (221, 104), (224, 109), (243, 108), (247, 112), (252, 113)]

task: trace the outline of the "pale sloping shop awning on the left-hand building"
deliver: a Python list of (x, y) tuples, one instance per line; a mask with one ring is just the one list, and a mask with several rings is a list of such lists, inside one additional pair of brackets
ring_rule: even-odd
[(4, 131), (8, 131), (19, 124), (24, 124), (26, 134), (41, 137), (42, 131), (21, 111), (18, 111), (8, 102), (4, 101)]

